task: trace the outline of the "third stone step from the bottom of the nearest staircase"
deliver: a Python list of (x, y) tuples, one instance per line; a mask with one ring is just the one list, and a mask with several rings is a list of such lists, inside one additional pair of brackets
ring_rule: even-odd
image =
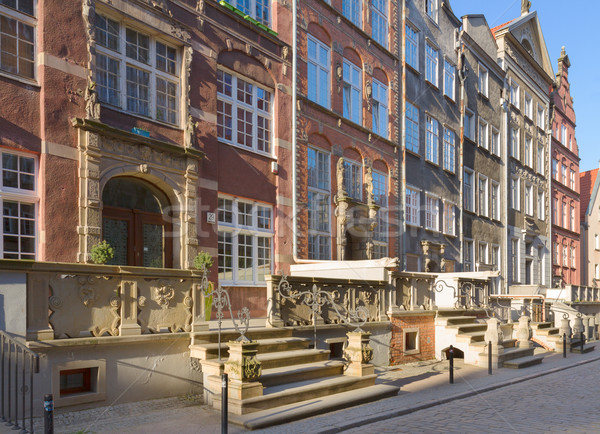
[(303, 365), (263, 369), (260, 383), (265, 387), (273, 387), (297, 381), (342, 375), (344, 366), (345, 363), (341, 360), (326, 360)]

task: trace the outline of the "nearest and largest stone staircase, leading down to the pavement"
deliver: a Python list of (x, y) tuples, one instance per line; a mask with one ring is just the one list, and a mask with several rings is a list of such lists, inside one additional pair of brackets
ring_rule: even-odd
[[(394, 396), (399, 388), (375, 384), (372, 365), (362, 375), (350, 375), (347, 362), (330, 359), (330, 351), (309, 348), (311, 340), (294, 337), (292, 328), (251, 329), (246, 336), (257, 342), (256, 359), (262, 373), (243, 396), (229, 390), (229, 420), (256, 429), (278, 423), (346, 408)], [(218, 360), (218, 335), (199, 332), (190, 345), (191, 357), (202, 364), (205, 402), (221, 408), (221, 378), (229, 357), (228, 341), (235, 332), (221, 334), (221, 360)], [(230, 378), (231, 382), (231, 378)]]

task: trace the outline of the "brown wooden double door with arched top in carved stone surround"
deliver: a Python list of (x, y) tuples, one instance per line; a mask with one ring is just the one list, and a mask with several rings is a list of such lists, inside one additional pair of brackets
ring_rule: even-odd
[(102, 233), (113, 247), (112, 265), (173, 266), (172, 225), (164, 218), (167, 196), (137, 178), (112, 178), (102, 191)]

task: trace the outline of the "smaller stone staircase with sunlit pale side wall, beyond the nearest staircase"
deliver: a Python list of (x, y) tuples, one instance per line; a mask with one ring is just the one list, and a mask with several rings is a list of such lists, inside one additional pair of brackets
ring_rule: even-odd
[[(464, 362), (471, 365), (487, 366), (488, 343), (485, 334), (488, 328), (481, 318), (484, 311), (438, 311), (435, 320), (436, 352), (453, 345), (464, 354)], [(513, 324), (501, 324), (505, 338), (492, 350), (494, 368), (525, 368), (542, 361), (542, 357), (533, 355), (534, 348), (523, 348), (512, 338)]]

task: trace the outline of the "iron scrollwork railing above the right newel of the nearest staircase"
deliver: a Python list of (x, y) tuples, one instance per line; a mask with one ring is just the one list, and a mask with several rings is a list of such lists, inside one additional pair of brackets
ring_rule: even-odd
[(335, 311), (340, 324), (356, 327), (354, 331), (362, 332), (362, 326), (369, 320), (369, 310), (366, 306), (358, 306), (356, 309), (344, 309), (336, 303), (339, 298), (337, 291), (323, 291), (316, 284), (307, 291), (292, 288), (283, 274), (277, 285), (277, 292), (284, 300), (294, 301), (310, 308), (313, 324), (313, 345), (317, 345), (317, 316), (321, 315), (323, 306), (329, 306)]

